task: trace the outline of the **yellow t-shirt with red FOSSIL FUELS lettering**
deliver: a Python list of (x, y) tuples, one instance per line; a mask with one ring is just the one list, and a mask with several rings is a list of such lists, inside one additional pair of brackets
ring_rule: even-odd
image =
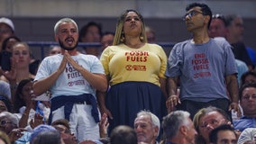
[(125, 81), (144, 81), (160, 85), (164, 77), (167, 56), (157, 44), (146, 43), (139, 49), (124, 44), (107, 47), (100, 58), (110, 85)]

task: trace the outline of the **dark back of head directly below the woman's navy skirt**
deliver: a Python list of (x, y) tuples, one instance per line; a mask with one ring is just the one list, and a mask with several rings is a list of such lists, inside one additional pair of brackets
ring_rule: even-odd
[(137, 144), (137, 141), (135, 130), (129, 126), (117, 126), (110, 134), (110, 144)]

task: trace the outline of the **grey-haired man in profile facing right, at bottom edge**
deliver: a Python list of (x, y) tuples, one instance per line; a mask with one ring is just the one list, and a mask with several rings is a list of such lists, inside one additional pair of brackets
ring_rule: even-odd
[(174, 111), (163, 118), (161, 124), (167, 144), (195, 143), (197, 130), (189, 116), (189, 112)]

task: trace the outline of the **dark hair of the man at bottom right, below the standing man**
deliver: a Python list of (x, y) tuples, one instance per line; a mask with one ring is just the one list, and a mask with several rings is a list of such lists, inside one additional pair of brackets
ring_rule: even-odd
[(233, 130), (233, 127), (230, 124), (223, 124), (223, 125), (220, 125), (220, 126), (216, 127), (214, 130), (212, 130), (210, 132), (209, 139), (210, 139), (211, 143), (214, 143), (214, 144), (217, 143), (217, 141), (218, 141), (218, 132), (222, 131), (222, 130), (231, 130), (231, 131), (233, 131), (233, 134), (236, 137), (236, 134)]

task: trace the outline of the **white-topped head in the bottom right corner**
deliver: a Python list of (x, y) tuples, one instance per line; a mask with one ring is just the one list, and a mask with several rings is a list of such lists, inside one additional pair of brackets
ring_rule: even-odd
[(256, 128), (247, 128), (247, 129), (243, 130), (241, 135), (239, 136), (239, 138), (237, 140), (237, 143), (238, 144), (244, 144), (247, 141), (248, 142), (249, 141), (254, 141), (254, 144), (256, 143)]

